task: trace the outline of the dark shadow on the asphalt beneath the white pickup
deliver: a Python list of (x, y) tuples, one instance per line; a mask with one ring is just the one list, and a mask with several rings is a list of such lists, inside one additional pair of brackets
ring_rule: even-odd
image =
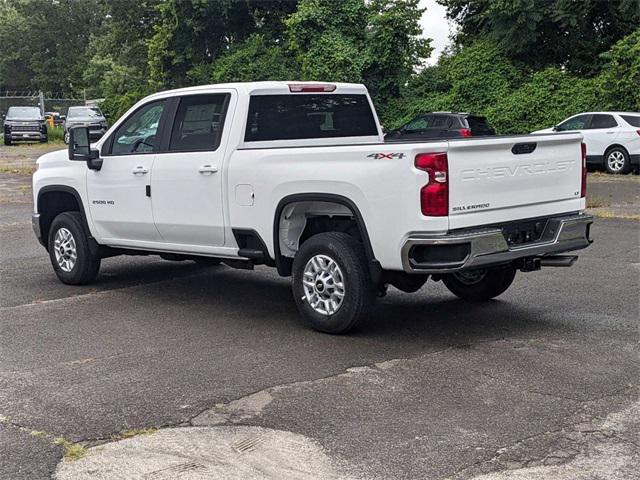
[[(342, 337), (317, 333), (302, 324), (289, 279), (279, 278), (266, 269), (242, 272), (216, 267), (173, 280), (170, 288), (161, 285), (150, 288), (149, 293), (153, 292), (158, 297), (151, 304), (187, 302), (189, 311), (210, 312), (207, 320), (216, 330), (251, 326), (266, 335), (281, 335), (286, 328), (291, 335), (306, 332), (333, 339), (472, 343), (536, 331), (548, 333), (557, 328), (553, 322), (542, 319), (537, 309), (523, 306), (515, 295), (470, 303), (457, 299), (434, 282), (414, 294), (390, 288), (387, 296), (378, 299), (369, 318)], [(227, 318), (233, 318), (234, 322), (227, 322)], [(198, 315), (197, 321), (202, 321), (202, 317)]]

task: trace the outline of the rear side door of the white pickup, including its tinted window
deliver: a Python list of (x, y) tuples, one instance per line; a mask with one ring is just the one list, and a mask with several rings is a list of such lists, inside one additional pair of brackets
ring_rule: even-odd
[(230, 103), (232, 94), (224, 91), (179, 99), (167, 151), (156, 156), (151, 177), (153, 216), (165, 243), (224, 245), (223, 136)]

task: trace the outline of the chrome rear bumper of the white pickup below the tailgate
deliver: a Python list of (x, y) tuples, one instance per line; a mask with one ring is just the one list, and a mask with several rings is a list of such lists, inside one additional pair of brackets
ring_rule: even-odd
[(402, 265), (408, 273), (451, 273), (463, 269), (540, 257), (540, 266), (571, 266), (577, 257), (558, 253), (588, 247), (593, 217), (571, 214), (549, 218), (540, 239), (509, 245), (496, 227), (445, 235), (413, 234), (402, 246)]

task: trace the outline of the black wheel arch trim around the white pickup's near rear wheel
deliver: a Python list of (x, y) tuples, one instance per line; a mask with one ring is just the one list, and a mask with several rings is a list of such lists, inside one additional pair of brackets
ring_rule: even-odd
[(280, 221), (282, 212), (288, 205), (300, 202), (326, 202), (346, 207), (351, 212), (351, 215), (355, 220), (358, 232), (364, 245), (365, 254), (369, 262), (370, 269), (372, 269), (372, 274), (377, 273), (380, 270), (379, 264), (375, 259), (373, 247), (371, 246), (371, 240), (369, 238), (366, 223), (364, 221), (362, 213), (360, 212), (360, 209), (355, 204), (355, 202), (343, 195), (334, 193), (296, 193), (287, 195), (278, 202), (278, 206), (276, 207), (273, 217), (273, 249), (275, 254), (276, 267), (280, 275), (291, 275), (292, 266), (291, 259), (289, 257), (285, 257), (280, 251)]

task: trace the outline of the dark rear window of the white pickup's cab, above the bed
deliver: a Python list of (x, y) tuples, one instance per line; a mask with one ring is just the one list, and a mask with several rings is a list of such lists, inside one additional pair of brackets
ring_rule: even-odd
[(252, 95), (245, 142), (377, 136), (365, 94)]

